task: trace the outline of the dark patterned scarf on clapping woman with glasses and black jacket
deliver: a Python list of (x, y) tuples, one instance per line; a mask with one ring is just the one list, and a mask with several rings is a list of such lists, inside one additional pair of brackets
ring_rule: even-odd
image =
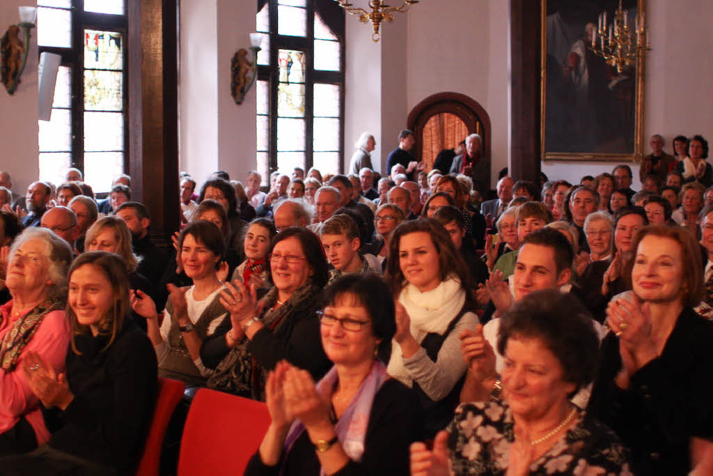
[[(272, 288), (257, 303), (257, 315), (262, 316), (262, 325), (272, 333), (279, 331), (292, 315), (297, 306), (302, 307), (305, 301), (317, 298), (319, 288), (310, 283), (294, 291), (284, 304), (277, 309), (272, 306), (277, 303), (277, 288)], [(234, 393), (242, 397), (265, 401), (265, 380), (267, 371), (255, 360), (247, 349), (250, 340), (243, 337), (234, 348), (230, 349), (225, 358), (215, 368), (208, 379), (208, 388), (222, 392)]]

